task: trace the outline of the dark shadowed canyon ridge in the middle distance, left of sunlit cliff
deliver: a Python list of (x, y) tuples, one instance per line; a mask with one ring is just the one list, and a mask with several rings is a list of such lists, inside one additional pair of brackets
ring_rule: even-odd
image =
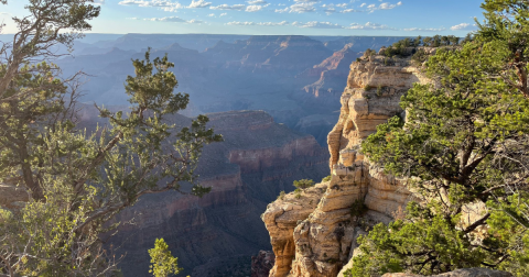
[(269, 250), (260, 223), (267, 203), (296, 179), (328, 175), (327, 152), (314, 137), (274, 123), (262, 111), (208, 114), (225, 141), (204, 148), (197, 173), (212, 187), (203, 198), (174, 192), (148, 196), (123, 211), (125, 224), (110, 240), (127, 253), (125, 276), (148, 276), (148, 248), (163, 237), (179, 266), (192, 276), (247, 276), (250, 256)]

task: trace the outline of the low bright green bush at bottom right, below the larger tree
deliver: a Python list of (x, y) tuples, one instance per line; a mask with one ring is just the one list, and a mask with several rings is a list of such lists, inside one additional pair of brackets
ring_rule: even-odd
[[(408, 207), (410, 213), (417, 207)], [(358, 243), (361, 255), (353, 258), (345, 276), (370, 277), (409, 270), (421, 275), (477, 267), (485, 251), (471, 244), (467, 235), (440, 214), (413, 221), (379, 223)]]

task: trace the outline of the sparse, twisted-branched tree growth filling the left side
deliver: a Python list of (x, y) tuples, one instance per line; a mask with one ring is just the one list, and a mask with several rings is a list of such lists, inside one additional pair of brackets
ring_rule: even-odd
[[(0, 182), (24, 187), (30, 201), (0, 219), (0, 274), (9, 276), (110, 276), (115, 258), (100, 234), (110, 219), (148, 193), (181, 191), (196, 182), (204, 144), (222, 137), (199, 115), (176, 129), (171, 117), (188, 96), (174, 93), (168, 57), (133, 60), (126, 80), (129, 112), (98, 107), (108, 126), (94, 134), (76, 126), (74, 78), (35, 59), (53, 58), (50, 47), (72, 46), (99, 13), (91, 0), (30, 0), (31, 15), (14, 19), (21, 30), (2, 44), (0, 60)], [(7, 3), (7, 1), (3, 1)], [(61, 31), (73, 31), (62, 33)]]

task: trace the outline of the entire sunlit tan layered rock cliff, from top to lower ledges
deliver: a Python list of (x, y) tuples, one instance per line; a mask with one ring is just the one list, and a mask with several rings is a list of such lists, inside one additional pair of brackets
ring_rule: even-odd
[[(388, 64), (386, 62), (386, 64)], [(389, 118), (401, 114), (400, 97), (413, 82), (427, 82), (409, 59), (385, 65), (364, 57), (350, 65), (339, 120), (328, 134), (332, 179), (298, 199), (271, 203), (263, 214), (277, 257), (271, 277), (335, 277), (352, 258), (356, 239), (378, 222), (388, 223), (411, 199), (402, 184), (358, 153), (359, 143)], [(352, 212), (364, 202), (361, 217)]]

